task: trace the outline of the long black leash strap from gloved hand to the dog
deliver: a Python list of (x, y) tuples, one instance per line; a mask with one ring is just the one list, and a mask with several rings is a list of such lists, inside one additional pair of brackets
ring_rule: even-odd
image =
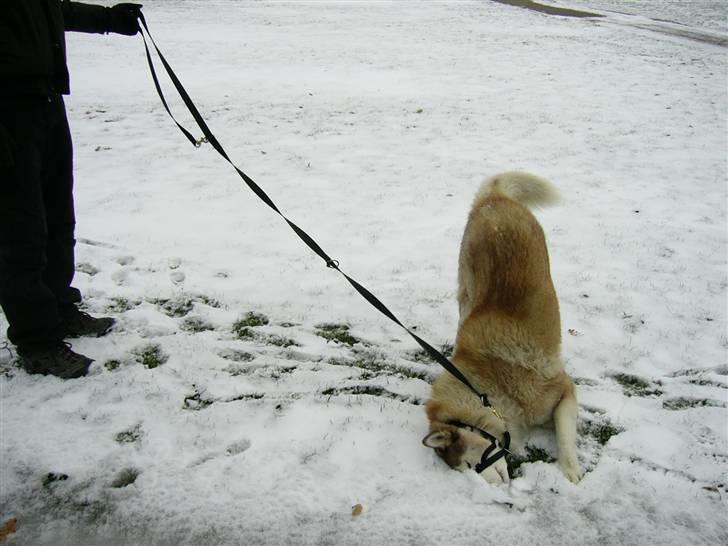
[[(319, 246), (319, 244), (304, 230), (302, 230), (300, 227), (298, 227), (296, 224), (294, 224), (291, 220), (289, 220), (276, 206), (276, 204), (273, 202), (273, 200), (268, 196), (268, 194), (263, 191), (263, 188), (261, 188), (256, 182), (250, 178), (247, 174), (245, 174), (243, 171), (241, 171), (230, 159), (228, 154), (225, 152), (225, 149), (222, 147), (220, 142), (217, 140), (214, 134), (212, 134), (212, 131), (208, 127), (207, 123), (205, 123), (205, 120), (202, 118), (202, 115), (200, 114), (199, 110), (195, 106), (194, 102), (190, 98), (189, 94), (187, 93), (187, 90), (184, 88), (182, 83), (179, 81), (179, 78), (174, 73), (174, 70), (172, 70), (172, 67), (167, 62), (167, 59), (164, 57), (162, 52), (160, 51), (159, 47), (157, 46), (156, 42), (154, 41), (154, 38), (152, 37), (151, 33), (149, 32), (149, 27), (147, 26), (147, 22), (144, 19), (144, 15), (141, 13), (139, 14), (139, 21), (142, 24), (143, 31), (141, 32), (142, 39), (144, 40), (144, 49), (146, 50), (147, 54), (147, 62), (149, 63), (149, 70), (152, 73), (152, 80), (154, 80), (154, 87), (157, 89), (157, 94), (159, 95), (159, 98), (162, 101), (162, 104), (164, 105), (165, 110), (167, 110), (167, 113), (169, 114), (169, 117), (172, 118), (172, 121), (177, 125), (180, 131), (182, 131), (182, 134), (185, 135), (187, 140), (190, 141), (190, 143), (195, 146), (196, 148), (200, 147), (200, 145), (203, 142), (208, 142), (214, 149), (217, 151), (218, 154), (220, 154), (225, 161), (227, 161), (238, 173), (240, 178), (243, 179), (243, 181), (248, 185), (248, 187), (271, 209), (273, 209), (283, 220), (286, 221), (286, 223), (290, 226), (290, 228), (295, 232), (296, 235), (308, 246), (313, 252), (318, 255), (325, 263), (326, 267), (329, 267), (331, 269), (335, 269), (341, 275), (344, 276), (344, 278), (351, 284), (351, 286), (354, 287), (354, 289), (365, 299), (367, 300), (372, 306), (374, 306), (380, 313), (382, 313), (384, 316), (389, 318), (391, 321), (398, 324), (402, 329), (404, 329), (412, 338), (422, 347), (430, 357), (432, 357), (436, 362), (438, 362), (443, 368), (445, 368), (448, 372), (450, 372), (452, 375), (454, 375), (456, 378), (458, 378), (465, 386), (467, 386), (471, 391), (473, 391), (482, 404), (484, 406), (490, 406), (490, 402), (488, 401), (487, 395), (484, 393), (479, 393), (468, 381), (468, 379), (458, 370), (455, 365), (450, 362), (450, 360), (445, 357), (440, 351), (435, 349), (432, 345), (427, 343), (424, 339), (419, 337), (414, 332), (410, 331), (409, 328), (407, 328), (400, 320), (390, 311), (382, 301), (377, 298), (374, 294), (372, 294), (367, 288), (362, 286), (360, 283), (358, 283), (356, 280), (352, 279), (349, 275), (344, 273), (339, 268), (339, 262), (332, 259), (324, 250)], [(172, 81), (172, 84), (174, 85), (175, 89), (177, 89), (177, 92), (179, 93), (180, 97), (182, 98), (182, 101), (185, 103), (185, 106), (190, 111), (190, 114), (192, 114), (193, 119), (197, 123), (198, 127), (202, 131), (203, 138), (200, 140), (195, 139), (195, 137), (185, 129), (180, 122), (177, 121), (177, 119), (172, 114), (172, 111), (169, 108), (169, 105), (167, 104), (167, 100), (164, 97), (164, 93), (162, 92), (162, 86), (159, 83), (159, 78), (157, 77), (157, 72), (154, 68), (154, 61), (152, 60), (152, 54), (151, 50), (149, 48), (149, 44), (147, 43), (147, 37), (149, 38), (149, 41), (151, 42), (152, 46), (154, 47), (154, 50), (157, 52), (157, 55), (159, 56), (159, 59), (162, 61), (162, 65), (164, 66), (164, 69), (167, 72), (167, 75), (169, 76), (170, 80)]]

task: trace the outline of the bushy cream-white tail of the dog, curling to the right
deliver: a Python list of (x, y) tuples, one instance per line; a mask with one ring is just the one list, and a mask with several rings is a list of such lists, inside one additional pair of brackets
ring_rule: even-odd
[(475, 195), (476, 206), (495, 195), (508, 197), (527, 207), (551, 205), (559, 200), (559, 191), (551, 182), (520, 171), (497, 174), (483, 182)]

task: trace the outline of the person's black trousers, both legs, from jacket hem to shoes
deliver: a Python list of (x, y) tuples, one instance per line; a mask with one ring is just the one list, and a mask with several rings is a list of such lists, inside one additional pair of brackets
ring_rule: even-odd
[(22, 350), (59, 340), (59, 303), (80, 300), (72, 148), (61, 97), (3, 101), (0, 125), (11, 150), (0, 165), (0, 306)]

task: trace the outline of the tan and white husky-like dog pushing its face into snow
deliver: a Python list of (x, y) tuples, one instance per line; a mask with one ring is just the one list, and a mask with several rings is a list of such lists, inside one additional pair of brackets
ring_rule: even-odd
[[(460, 318), (452, 362), (491, 404), (449, 372), (426, 403), (430, 433), (422, 440), (451, 468), (475, 468), (488, 482), (508, 483), (500, 458), (526, 432), (553, 424), (558, 464), (572, 482), (582, 477), (576, 454), (574, 383), (561, 361), (561, 323), (543, 229), (528, 207), (558, 200), (546, 180), (506, 172), (475, 195), (458, 267)], [(506, 431), (508, 434), (506, 434)]]

